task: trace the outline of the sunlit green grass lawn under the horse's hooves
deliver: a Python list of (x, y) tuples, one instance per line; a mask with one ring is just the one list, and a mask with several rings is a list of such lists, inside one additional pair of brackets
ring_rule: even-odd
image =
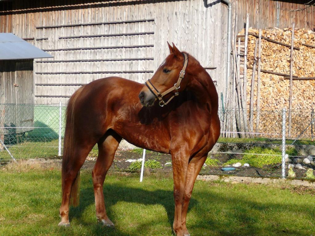
[[(14, 169), (13, 169), (14, 170)], [(81, 199), (69, 228), (59, 228), (59, 170), (0, 171), (0, 235), (172, 235), (173, 181), (161, 175), (108, 175), (107, 213), (115, 229), (96, 222), (90, 171), (81, 172)], [(197, 181), (187, 228), (197, 235), (312, 235), (314, 191)]]

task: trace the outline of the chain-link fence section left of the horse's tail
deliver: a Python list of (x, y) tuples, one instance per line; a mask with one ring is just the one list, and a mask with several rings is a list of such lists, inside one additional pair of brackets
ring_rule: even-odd
[[(61, 105), (64, 117), (66, 105)], [(60, 105), (0, 104), (0, 160), (58, 155)], [(64, 119), (61, 120), (64, 132)], [(4, 148), (9, 150), (9, 152)]]

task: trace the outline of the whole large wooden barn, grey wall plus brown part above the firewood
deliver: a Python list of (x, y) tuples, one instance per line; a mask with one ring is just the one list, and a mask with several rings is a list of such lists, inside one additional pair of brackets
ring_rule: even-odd
[(167, 41), (200, 61), (225, 104), (232, 90), (227, 55), (246, 14), (253, 28), (284, 28), (295, 21), (313, 29), (315, 8), (306, 8), (308, 2), (5, 0), (0, 1), (0, 32), (12, 32), (54, 56), (33, 63), (38, 104), (66, 103), (83, 84), (107, 76), (144, 83), (168, 54)]

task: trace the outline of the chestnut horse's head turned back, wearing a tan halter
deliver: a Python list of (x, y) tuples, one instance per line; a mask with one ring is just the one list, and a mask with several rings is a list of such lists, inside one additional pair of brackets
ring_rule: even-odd
[[(169, 43), (167, 43), (169, 45)], [(187, 85), (185, 75), (188, 63), (187, 53), (181, 53), (173, 43), (169, 45), (169, 56), (159, 66), (151, 79), (139, 93), (143, 106), (152, 106), (156, 100), (160, 106), (167, 104), (172, 98), (183, 91)]]

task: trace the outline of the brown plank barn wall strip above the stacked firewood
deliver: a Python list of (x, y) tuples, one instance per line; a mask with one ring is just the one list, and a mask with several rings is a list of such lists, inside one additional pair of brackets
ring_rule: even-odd
[(238, 12), (237, 29), (241, 31), (244, 28), (246, 14), (249, 13), (249, 27), (255, 29), (284, 29), (295, 22), (295, 28), (315, 31), (315, 6), (304, 5), (308, 2), (310, 1), (237, 0), (233, 6)]

